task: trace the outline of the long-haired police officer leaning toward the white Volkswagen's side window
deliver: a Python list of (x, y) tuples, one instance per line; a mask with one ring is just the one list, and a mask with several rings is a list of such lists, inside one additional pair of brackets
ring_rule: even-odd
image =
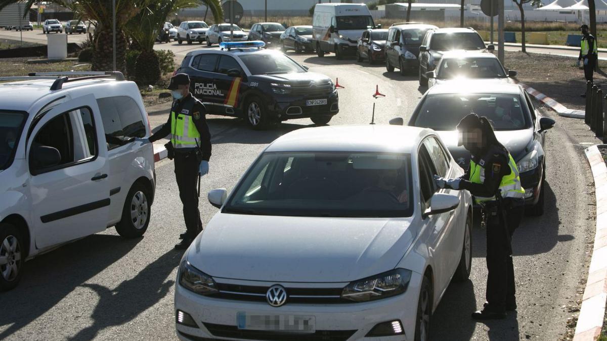
[(459, 145), (472, 154), (470, 167), (461, 178), (436, 177), (440, 188), (466, 189), (481, 205), (487, 233), (487, 302), (473, 312), (478, 320), (503, 319), (517, 308), (510, 238), (524, 213), (524, 190), (518, 168), (497, 138), (489, 120), (476, 114), (458, 124)]

